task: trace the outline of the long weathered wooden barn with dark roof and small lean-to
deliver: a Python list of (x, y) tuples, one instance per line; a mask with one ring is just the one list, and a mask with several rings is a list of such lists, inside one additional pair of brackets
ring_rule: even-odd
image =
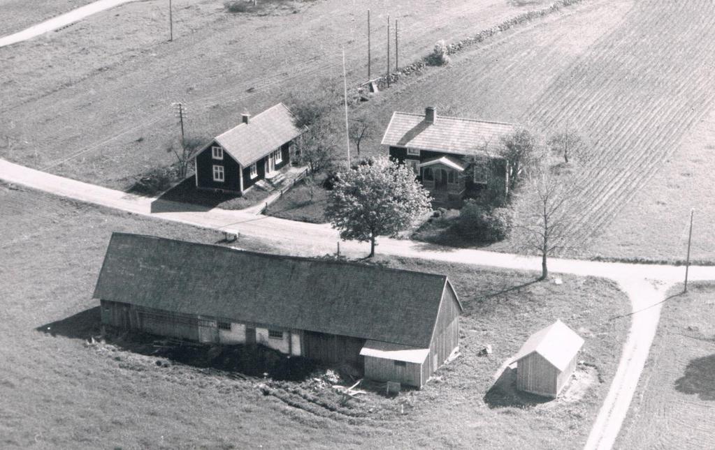
[(103, 324), (263, 344), (416, 387), (458, 349), (462, 311), (444, 275), (121, 233), (94, 298)]

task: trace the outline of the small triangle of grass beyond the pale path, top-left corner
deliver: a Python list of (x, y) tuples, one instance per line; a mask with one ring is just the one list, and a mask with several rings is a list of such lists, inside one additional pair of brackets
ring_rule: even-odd
[(13, 34), (94, 0), (0, 0), (0, 36)]

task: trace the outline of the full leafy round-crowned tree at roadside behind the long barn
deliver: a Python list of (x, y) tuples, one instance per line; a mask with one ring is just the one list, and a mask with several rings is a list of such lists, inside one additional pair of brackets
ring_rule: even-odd
[(370, 241), (394, 236), (430, 211), (430, 194), (408, 167), (380, 156), (338, 172), (325, 216), (342, 239)]

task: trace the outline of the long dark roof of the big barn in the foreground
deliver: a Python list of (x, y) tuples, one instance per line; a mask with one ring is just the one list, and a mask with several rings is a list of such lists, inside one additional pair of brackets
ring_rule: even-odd
[(445, 275), (114, 233), (94, 298), (426, 348)]

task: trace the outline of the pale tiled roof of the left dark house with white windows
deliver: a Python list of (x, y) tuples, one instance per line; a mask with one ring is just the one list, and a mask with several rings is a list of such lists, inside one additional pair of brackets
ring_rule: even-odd
[(287, 106), (279, 103), (214, 140), (246, 167), (297, 136), (300, 129), (295, 126), (294, 116)]

